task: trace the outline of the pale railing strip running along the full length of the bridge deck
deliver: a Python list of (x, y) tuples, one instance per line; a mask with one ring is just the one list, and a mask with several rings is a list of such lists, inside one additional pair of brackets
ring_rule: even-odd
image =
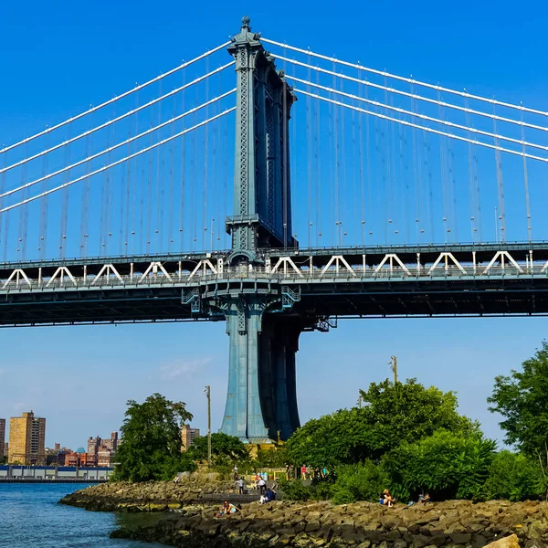
[[(518, 267), (518, 268), (516, 268)], [(0, 292), (13, 291), (56, 291), (56, 290), (110, 290), (121, 288), (190, 287), (204, 283), (220, 281), (264, 281), (286, 284), (303, 282), (374, 282), (383, 280), (437, 280), (437, 279), (501, 279), (501, 278), (548, 278), (546, 265), (520, 264), (506, 266), (469, 265), (464, 267), (441, 266), (428, 268), (411, 267), (350, 267), (350, 268), (300, 268), (300, 269), (265, 269), (265, 268), (225, 268), (222, 270), (198, 270), (195, 272), (168, 272), (158, 270), (151, 274), (74, 276), (69, 271), (55, 278), (31, 279), (24, 270), (14, 270), (8, 279), (0, 279)]]

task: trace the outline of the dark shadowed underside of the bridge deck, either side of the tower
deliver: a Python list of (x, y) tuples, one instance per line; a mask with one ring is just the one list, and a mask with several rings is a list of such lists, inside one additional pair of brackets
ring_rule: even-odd
[[(224, 287), (222, 280), (217, 285)], [(252, 290), (253, 282), (240, 287)], [(310, 318), (548, 314), (548, 277), (302, 280), (290, 287), (300, 290), (300, 300), (282, 313)], [(11, 291), (0, 298), (3, 326), (220, 319), (191, 311), (176, 285)]]

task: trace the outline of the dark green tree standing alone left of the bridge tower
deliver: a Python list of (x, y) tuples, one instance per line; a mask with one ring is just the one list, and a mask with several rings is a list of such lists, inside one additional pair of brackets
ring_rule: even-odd
[(172, 479), (177, 472), (195, 468), (181, 451), (181, 425), (192, 419), (183, 402), (153, 394), (142, 404), (129, 400), (127, 405), (114, 479)]

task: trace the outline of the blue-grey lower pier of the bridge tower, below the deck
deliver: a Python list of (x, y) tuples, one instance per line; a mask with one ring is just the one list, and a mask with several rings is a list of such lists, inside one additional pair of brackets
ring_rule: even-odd
[(221, 431), (248, 443), (287, 439), (298, 427), (295, 353), (302, 322), (238, 299), (227, 311), (228, 394)]

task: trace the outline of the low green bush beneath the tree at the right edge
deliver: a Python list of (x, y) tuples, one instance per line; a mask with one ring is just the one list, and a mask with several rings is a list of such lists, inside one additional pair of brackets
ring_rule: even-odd
[(538, 461), (501, 451), (493, 458), (481, 498), (528, 501), (541, 498), (544, 492), (543, 471)]

